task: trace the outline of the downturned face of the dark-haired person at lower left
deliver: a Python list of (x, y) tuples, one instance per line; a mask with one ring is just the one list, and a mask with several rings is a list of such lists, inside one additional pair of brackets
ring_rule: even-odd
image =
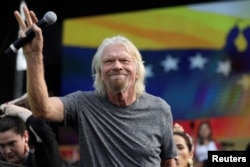
[(0, 132), (0, 153), (11, 163), (19, 164), (25, 158), (25, 144), (28, 141), (28, 132), (22, 137), (14, 130)]

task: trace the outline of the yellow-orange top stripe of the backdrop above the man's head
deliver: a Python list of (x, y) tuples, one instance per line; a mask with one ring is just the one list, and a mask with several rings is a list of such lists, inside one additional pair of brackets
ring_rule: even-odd
[(64, 21), (63, 44), (96, 48), (103, 38), (121, 34), (140, 49), (220, 49), (236, 21), (187, 6), (71, 18)]

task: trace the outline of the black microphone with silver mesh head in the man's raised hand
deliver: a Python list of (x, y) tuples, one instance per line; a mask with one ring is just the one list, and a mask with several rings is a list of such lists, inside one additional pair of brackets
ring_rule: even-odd
[[(54, 24), (57, 20), (57, 16), (54, 12), (49, 11), (44, 14), (44, 17), (39, 20), (36, 25), (40, 27), (41, 29)], [(6, 55), (13, 55), (15, 54), (23, 45), (27, 44), (30, 42), (34, 37), (35, 33), (34, 31), (30, 28), (28, 31), (25, 32), (26, 37), (20, 37), (16, 41), (14, 41), (10, 46), (4, 51)]]

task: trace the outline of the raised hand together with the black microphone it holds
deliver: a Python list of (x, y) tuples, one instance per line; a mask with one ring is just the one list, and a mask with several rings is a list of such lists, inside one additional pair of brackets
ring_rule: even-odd
[(15, 54), (22, 46), (30, 42), (35, 36), (37, 36), (36, 42), (34, 42), (33, 44), (31, 43), (30, 48), (26, 48), (25, 52), (31, 53), (32, 51), (41, 51), (42, 45), (40, 43), (43, 42), (43, 37), (42, 37), (42, 32), (41, 30), (39, 30), (38, 27), (43, 29), (48, 25), (54, 24), (57, 20), (56, 14), (52, 11), (45, 13), (44, 17), (38, 21), (33, 11), (29, 11), (26, 6), (23, 7), (23, 10), (26, 22), (22, 19), (18, 11), (14, 12), (16, 20), (18, 21), (19, 26), (21, 28), (20, 31), (21, 37), (18, 38), (16, 41), (14, 41), (12, 44), (10, 44), (9, 48), (5, 50), (4, 53), (6, 55)]

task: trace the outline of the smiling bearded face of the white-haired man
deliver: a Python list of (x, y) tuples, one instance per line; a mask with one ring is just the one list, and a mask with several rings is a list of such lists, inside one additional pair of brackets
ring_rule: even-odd
[(124, 45), (107, 46), (103, 51), (102, 63), (102, 80), (109, 93), (124, 92), (134, 86), (136, 66)]

